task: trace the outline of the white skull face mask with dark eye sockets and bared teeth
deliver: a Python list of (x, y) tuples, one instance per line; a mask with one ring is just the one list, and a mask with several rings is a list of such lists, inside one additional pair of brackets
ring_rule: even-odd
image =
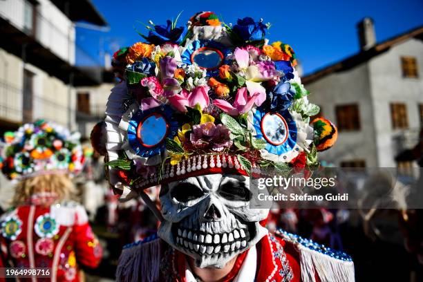
[(260, 241), (268, 209), (250, 209), (250, 178), (210, 174), (162, 185), (158, 235), (196, 261), (223, 267)]

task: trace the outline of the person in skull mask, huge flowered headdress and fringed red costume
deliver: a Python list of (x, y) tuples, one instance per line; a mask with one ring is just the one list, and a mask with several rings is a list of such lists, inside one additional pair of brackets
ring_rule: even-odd
[[(319, 107), (292, 48), (268, 44), (269, 26), (199, 12), (187, 26), (150, 26), (147, 43), (115, 53), (124, 81), (98, 147), (121, 200), (140, 196), (161, 222), (156, 236), (124, 248), (118, 281), (354, 281), (348, 255), (270, 234), (269, 209), (250, 209), (250, 178), (315, 167), (317, 148), (336, 139), (327, 120), (309, 125)], [(154, 185), (160, 209), (144, 193)]]

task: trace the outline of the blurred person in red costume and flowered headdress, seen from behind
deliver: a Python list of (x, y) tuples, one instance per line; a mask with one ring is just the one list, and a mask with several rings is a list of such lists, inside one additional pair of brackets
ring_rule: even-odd
[(17, 185), (1, 217), (1, 267), (49, 267), (51, 281), (79, 281), (80, 266), (102, 259), (84, 207), (70, 200), (84, 164), (79, 133), (37, 120), (3, 145), (2, 171)]

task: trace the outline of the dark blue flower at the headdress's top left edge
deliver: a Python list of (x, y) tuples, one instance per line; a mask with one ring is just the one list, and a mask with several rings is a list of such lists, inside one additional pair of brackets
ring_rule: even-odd
[(187, 35), (188, 29), (186, 26), (179, 28), (172, 28), (172, 22), (167, 20), (167, 26), (154, 26), (154, 30), (150, 30), (147, 40), (156, 45), (161, 45), (166, 42), (180, 44)]

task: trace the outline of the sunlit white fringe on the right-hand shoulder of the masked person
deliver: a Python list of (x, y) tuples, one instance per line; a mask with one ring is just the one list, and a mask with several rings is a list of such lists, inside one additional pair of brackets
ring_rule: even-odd
[[(315, 272), (321, 282), (355, 281), (353, 261), (341, 261), (299, 245), (301, 276), (303, 282), (316, 282)], [(315, 271), (315, 272), (314, 272)]]

